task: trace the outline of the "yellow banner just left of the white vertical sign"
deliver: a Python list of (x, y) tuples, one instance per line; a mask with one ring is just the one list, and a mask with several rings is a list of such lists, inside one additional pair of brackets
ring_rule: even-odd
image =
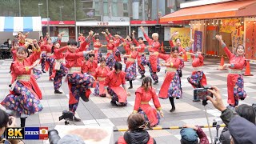
[(171, 28), (170, 34), (173, 34), (176, 31), (178, 31), (178, 35), (174, 37), (173, 41), (176, 38), (180, 38), (182, 42), (182, 47), (188, 47), (190, 43), (190, 28)]

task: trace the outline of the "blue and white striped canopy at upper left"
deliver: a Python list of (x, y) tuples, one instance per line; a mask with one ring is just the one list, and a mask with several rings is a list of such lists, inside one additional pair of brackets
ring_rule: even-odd
[(0, 17), (1, 31), (42, 31), (41, 17)]

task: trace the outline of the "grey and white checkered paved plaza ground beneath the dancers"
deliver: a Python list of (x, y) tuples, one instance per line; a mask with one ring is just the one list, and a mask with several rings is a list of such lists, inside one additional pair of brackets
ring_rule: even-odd
[[(207, 83), (212, 86), (218, 86), (221, 90), (223, 102), (227, 105), (227, 88), (226, 88), (226, 76), (227, 70), (217, 70), (219, 59), (217, 58), (206, 58), (205, 66), (203, 66), (203, 71), (206, 74)], [(10, 63), (12, 60), (0, 60), (0, 100), (9, 94), (10, 84)], [(123, 65), (124, 70), (125, 65)], [(38, 70), (40, 66), (37, 67)], [(247, 93), (247, 98), (240, 104), (252, 104), (256, 102), (256, 66), (251, 65), (251, 73), (254, 76), (244, 77), (245, 90)], [(204, 107), (200, 102), (192, 102), (193, 99), (193, 88), (186, 78), (190, 76), (192, 71), (191, 62), (185, 62), (185, 68), (182, 70), (182, 90), (183, 98), (174, 100), (176, 105), (176, 111), (170, 113), (171, 108), (168, 99), (160, 99), (162, 105), (164, 118), (158, 126), (169, 127), (169, 126), (183, 126), (186, 123), (194, 125), (206, 125), (206, 114)], [(160, 90), (163, 79), (165, 78), (165, 68), (162, 67), (161, 72), (158, 73), (159, 83), (154, 86), (157, 91)], [(148, 67), (146, 66), (146, 76), (150, 76)], [(140, 75), (138, 74), (138, 78)], [(26, 126), (48, 126), (49, 128), (54, 128), (56, 125), (64, 125), (64, 120), (59, 121), (58, 117), (62, 115), (62, 110), (68, 110), (68, 87), (66, 83), (63, 83), (61, 91), (63, 94), (54, 94), (53, 82), (48, 81), (48, 73), (43, 74), (42, 78), (38, 79), (38, 85), (42, 90), (42, 106), (44, 109), (38, 114), (34, 114), (27, 118)], [(80, 126), (114, 126), (114, 129), (127, 128), (126, 119), (129, 114), (132, 113), (134, 108), (134, 92), (138, 86), (141, 86), (142, 80), (136, 79), (134, 81), (134, 89), (130, 90), (131, 96), (128, 97), (128, 105), (123, 107), (111, 106), (109, 98), (99, 98), (94, 95), (90, 95), (89, 102), (79, 102), (77, 115), (78, 118), (82, 119), (82, 122), (76, 122), (76, 125)], [(126, 82), (127, 87), (129, 82)], [(220, 112), (214, 109), (214, 106), (210, 102), (206, 106), (207, 113), (210, 119), (210, 123), (214, 121), (214, 118), (220, 116)], [(154, 106), (153, 102), (150, 102)], [(19, 120), (18, 120), (19, 126)], [(210, 140), (210, 134), (208, 129), (203, 129)], [(216, 134), (215, 128), (212, 128), (213, 137)], [(180, 143), (180, 130), (149, 130), (150, 135), (159, 144), (164, 143)], [(114, 132), (114, 141), (121, 136), (123, 132)], [(46, 143), (42, 141), (26, 141), (26, 143)]]

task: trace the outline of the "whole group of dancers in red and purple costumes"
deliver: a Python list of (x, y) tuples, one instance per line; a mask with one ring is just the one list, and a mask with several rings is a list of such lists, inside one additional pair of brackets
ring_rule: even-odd
[[(177, 38), (173, 42), (174, 36), (178, 32), (171, 34), (170, 54), (162, 54), (158, 34), (152, 34), (152, 39), (146, 35), (143, 27), (141, 30), (148, 42), (146, 46), (143, 38), (138, 40), (132, 36), (122, 38), (118, 34), (114, 37), (109, 30), (103, 31), (107, 44), (102, 45), (99, 42), (99, 34), (90, 31), (87, 37), (79, 34), (78, 42), (70, 40), (67, 46), (60, 46), (62, 34), (58, 34), (56, 42), (52, 42), (49, 34), (45, 38), (40, 37), (37, 40), (26, 38), (28, 34), (18, 33), (18, 38), (14, 40), (12, 54), (14, 61), (10, 66), (12, 81), (10, 85), (10, 94), (1, 102), (8, 110), (14, 110), (16, 117), (21, 118), (21, 126), (25, 126), (26, 118), (31, 114), (40, 112), (43, 98), (36, 79), (40, 78), (42, 73), (49, 70), (49, 80), (54, 83), (54, 93), (62, 94), (59, 91), (62, 86), (62, 80), (67, 82), (70, 90), (69, 110), (75, 114), (79, 99), (88, 102), (94, 88), (93, 95), (111, 98), (110, 103), (113, 106), (126, 106), (127, 96), (130, 95), (129, 89), (133, 89), (133, 81), (137, 77), (136, 67), (141, 74), (142, 86), (135, 91), (135, 104), (133, 113), (139, 113), (144, 116), (150, 126), (156, 126), (160, 122), (163, 112), (158, 98), (169, 98), (172, 106), (170, 112), (174, 112), (174, 99), (182, 98), (182, 60), (184, 54), (190, 54), (193, 58), (193, 71), (188, 82), (194, 88), (206, 86), (206, 75), (202, 71), (203, 56), (200, 50), (192, 51), (193, 40), (190, 41), (190, 47), (183, 48), (181, 39)], [(222, 41), (221, 35), (216, 38), (224, 48), (230, 64), (224, 65), (229, 69), (227, 78), (228, 86), (228, 103), (230, 106), (238, 106), (238, 99), (246, 98), (246, 92), (243, 86), (242, 69), (246, 66), (244, 58), (245, 49), (238, 45), (237, 54), (232, 54)], [(89, 50), (90, 42), (94, 42), (94, 50)], [(123, 46), (126, 54), (121, 54), (118, 50)], [(102, 56), (100, 49), (106, 47), (106, 57)], [(146, 58), (145, 50), (149, 51), (149, 59)], [(126, 68), (122, 70), (121, 56), (124, 58)], [(159, 58), (164, 62), (159, 62)], [(136, 63), (137, 61), (137, 63)], [(35, 66), (41, 63), (42, 71), (36, 70)], [(145, 75), (145, 66), (149, 66), (150, 77)], [(161, 66), (166, 67), (166, 76), (162, 82), (158, 94), (154, 86), (158, 84), (158, 72)], [(153, 81), (152, 81), (153, 79)], [(126, 81), (130, 82), (130, 87), (126, 88)], [(122, 85), (122, 86), (121, 86)], [(150, 106), (149, 102), (153, 99), (156, 109)], [(194, 101), (200, 101), (194, 99)], [(74, 121), (79, 122), (81, 119), (74, 116)]]

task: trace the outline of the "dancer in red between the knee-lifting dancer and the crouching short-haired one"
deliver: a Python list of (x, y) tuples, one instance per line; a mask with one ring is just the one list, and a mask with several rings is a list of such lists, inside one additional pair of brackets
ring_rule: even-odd
[(106, 66), (106, 59), (100, 59), (100, 66), (95, 70), (95, 79), (97, 79), (97, 85), (94, 89), (94, 95), (100, 97), (106, 97), (106, 90), (104, 89), (104, 82), (106, 79), (106, 74), (110, 72), (110, 68)]

